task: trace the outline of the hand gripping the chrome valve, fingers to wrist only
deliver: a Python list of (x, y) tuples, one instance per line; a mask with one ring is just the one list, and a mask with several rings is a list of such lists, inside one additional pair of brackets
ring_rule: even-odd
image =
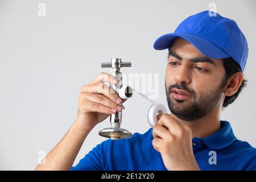
[(89, 84), (81, 87), (76, 119), (76, 124), (81, 130), (91, 130), (110, 114), (122, 110), (122, 106), (119, 106), (119, 104), (126, 100), (122, 100), (104, 82), (118, 84), (118, 80), (115, 80), (112, 75), (100, 73)]

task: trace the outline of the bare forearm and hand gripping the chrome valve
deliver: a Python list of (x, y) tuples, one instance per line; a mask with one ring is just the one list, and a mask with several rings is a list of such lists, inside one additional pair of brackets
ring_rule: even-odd
[[(115, 111), (121, 111), (124, 102), (104, 82), (116, 85), (115, 78), (101, 73), (89, 84), (82, 85), (79, 93), (79, 109), (72, 127), (61, 141), (46, 156), (46, 164), (38, 164), (36, 170), (69, 170), (84, 143), (85, 138), (98, 123)], [(118, 107), (119, 106), (119, 107)]]

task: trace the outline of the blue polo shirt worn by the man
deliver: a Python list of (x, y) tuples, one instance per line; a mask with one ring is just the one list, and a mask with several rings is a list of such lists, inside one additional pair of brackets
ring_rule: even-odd
[[(256, 170), (256, 148), (238, 140), (230, 123), (206, 138), (193, 138), (193, 153), (201, 170)], [(152, 146), (152, 128), (129, 139), (105, 140), (72, 170), (167, 170)]]

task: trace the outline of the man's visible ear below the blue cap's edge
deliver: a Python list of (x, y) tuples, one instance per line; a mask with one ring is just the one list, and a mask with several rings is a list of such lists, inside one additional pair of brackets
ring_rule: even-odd
[(234, 75), (230, 76), (228, 79), (228, 84), (224, 90), (226, 96), (232, 96), (240, 88), (240, 85), (243, 81), (243, 73), (237, 72)]

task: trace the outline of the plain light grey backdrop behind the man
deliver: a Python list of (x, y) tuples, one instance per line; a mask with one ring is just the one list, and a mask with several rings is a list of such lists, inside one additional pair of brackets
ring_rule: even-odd
[[(39, 3), (45, 17), (38, 16)], [(48, 153), (75, 121), (81, 85), (110, 72), (101, 61), (121, 57), (132, 62), (123, 73), (158, 73), (156, 101), (167, 106), (167, 51), (152, 44), (209, 3), (236, 20), (249, 43), (248, 86), (221, 119), (255, 147), (255, 1), (0, 0), (0, 169), (35, 168), (40, 152)], [(134, 94), (124, 105), (122, 127), (146, 132), (150, 102)], [(92, 130), (75, 164), (105, 140), (98, 131), (109, 126), (108, 118)]]

